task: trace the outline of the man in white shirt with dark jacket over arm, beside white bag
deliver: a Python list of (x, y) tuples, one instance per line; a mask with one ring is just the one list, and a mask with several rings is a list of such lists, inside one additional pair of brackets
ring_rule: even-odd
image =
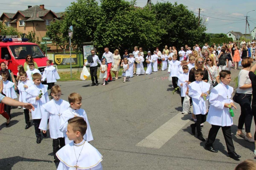
[[(91, 81), (93, 82), (93, 84), (91, 84), (91, 86), (98, 86), (98, 77), (97, 77), (97, 67), (98, 67), (98, 63), (101, 65), (100, 59), (98, 57), (98, 55), (95, 55), (95, 51), (91, 50), (91, 55), (88, 55), (87, 61), (84, 64), (84, 66), (90, 64), (90, 74), (91, 74)], [(95, 82), (94, 82), (95, 79)]]

